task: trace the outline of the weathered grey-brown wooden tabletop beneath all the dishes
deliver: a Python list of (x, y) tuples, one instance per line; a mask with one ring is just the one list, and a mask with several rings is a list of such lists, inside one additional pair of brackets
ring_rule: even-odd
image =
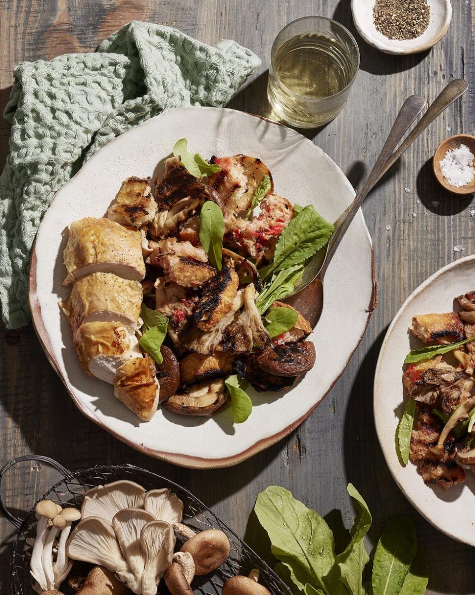
[[(420, 93), (432, 101), (457, 77), (475, 84), (475, 2), (456, 0), (445, 39), (429, 52), (408, 57), (392, 57), (368, 46), (355, 32), (349, 4), (349, 0), (0, 0), (0, 104), (3, 109), (17, 62), (92, 51), (111, 32), (137, 19), (177, 27), (203, 42), (229, 38), (251, 48), (262, 65), (230, 107), (268, 115), (267, 68), (277, 32), (305, 15), (333, 17), (356, 36), (361, 71), (342, 114), (307, 136), (357, 186), (374, 163), (406, 96)], [(431, 174), (431, 158), (442, 139), (473, 133), (474, 98), (474, 91), (469, 90), (433, 123), (399, 168), (367, 199), (364, 214), (375, 247), (379, 306), (332, 392), (287, 439), (249, 461), (219, 471), (189, 471), (141, 455), (77, 411), (29, 325), (19, 331), (0, 328), (1, 459), (37, 453), (69, 469), (120, 462), (144, 466), (188, 487), (254, 545), (257, 534), (248, 521), (249, 513), (266, 486), (285, 486), (308, 506), (330, 515), (332, 522), (348, 527), (354, 513), (345, 487), (351, 481), (373, 513), (368, 545), (374, 546), (390, 515), (410, 515), (429, 555), (428, 593), (475, 593), (475, 550), (443, 536), (424, 521), (389, 474), (376, 439), (372, 396), (376, 358), (399, 306), (426, 277), (475, 249), (475, 218), (469, 214), (473, 197), (454, 198)], [(1, 164), (9, 135), (8, 124), (2, 121)], [(463, 252), (455, 253), (455, 245), (464, 246)], [(329, 349), (338, 349), (338, 345), (329, 345)], [(24, 464), (8, 472), (2, 494), (21, 513), (55, 477), (45, 466)], [(10, 592), (13, 535), (11, 525), (2, 519), (0, 582), (5, 593)]]

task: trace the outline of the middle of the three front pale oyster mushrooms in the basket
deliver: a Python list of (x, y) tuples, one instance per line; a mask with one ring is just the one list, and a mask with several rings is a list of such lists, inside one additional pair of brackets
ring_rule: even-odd
[(154, 515), (137, 508), (125, 508), (117, 512), (112, 519), (112, 528), (117, 537), (120, 550), (127, 560), (138, 586), (145, 568), (145, 559), (140, 545), (140, 532), (151, 521), (155, 521)]

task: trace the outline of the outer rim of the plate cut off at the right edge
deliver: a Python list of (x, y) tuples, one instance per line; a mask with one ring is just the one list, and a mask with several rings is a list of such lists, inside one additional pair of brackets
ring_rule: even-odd
[[(475, 546), (475, 535), (474, 535), (473, 540), (469, 541), (467, 539), (457, 537), (453, 533), (450, 533), (450, 531), (439, 527), (436, 521), (434, 521), (432, 518), (430, 518), (430, 516), (427, 515), (425, 512), (421, 511), (421, 509), (419, 508), (417, 503), (415, 503), (413, 497), (411, 497), (407, 493), (407, 491), (405, 490), (401, 481), (399, 481), (398, 478), (396, 477), (395, 471), (393, 471), (393, 467), (389, 463), (389, 456), (386, 456), (386, 452), (389, 452), (389, 449), (386, 449), (386, 442), (383, 441), (382, 432), (380, 431), (380, 425), (379, 425), (380, 414), (378, 412), (378, 405), (380, 403), (380, 398), (379, 398), (378, 388), (377, 388), (378, 384), (379, 384), (379, 376), (380, 376), (380, 372), (381, 372), (380, 368), (382, 367), (383, 357), (385, 356), (385, 350), (388, 346), (390, 336), (392, 336), (394, 327), (397, 324), (397, 322), (399, 321), (399, 318), (402, 317), (402, 314), (404, 314), (404, 311), (405, 311), (407, 305), (414, 299), (414, 297), (419, 295), (424, 289), (426, 289), (426, 287), (431, 285), (438, 277), (440, 277), (440, 275), (446, 273), (446, 271), (449, 271), (452, 268), (456, 268), (462, 264), (465, 264), (465, 262), (470, 262), (470, 261), (475, 262), (475, 254), (469, 254), (467, 256), (464, 256), (463, 258), (459, 258), (456, 261), (449, 262), (445, 266), (439, 268), (439, 270), (435, 271), (435, 273), (433, 273), (432, 275), (427, 277), (426, 280), (424, 280), (420, 285), (418, 285), (414, 289), (414, 291), (412, 293), (410, 293), (410, 295), (404, 300), (404, 303), (402, 303), (401, 307), (396, 312), (395, 317), (393, 318), (392, 322), (390, 323), (390, 325), (388, 327), (388, 330), (386, 331), (385, 338), (383, 339), (383, 343), (381, 345), (381, 349), (379, 351), (379, 356), (378, 356), (378, 359), (376, 362), (376, 369), (374, 371), (373, 417), (374, 417), (374, 425), (376, 427), (376, 436), (377, 436), (377, 439), (379, 442), (380, 449), (383, 452), (383, 456), (385, 458), (386, 465), (388, 466), (389, 472), (392, 475), (393, 480), (396, 482), (396, 485), (398, 486), (399, 490), (401, 490), (402, 494), (404, 494), (404, 496), (408, 500), (408, 502), (410, 502), (411, 505), (414, 506), (415, 510), (421, 516), (423, 516), (423, 518), (426, 519), (427, 522), (429, 522), (433, 527), (435, 527), (438, 531), (440, 531), (440, 533), (443, 533), (444, 535), (454, 539), (455, 541), (460, 541), (460, 543), (465, 543), (469, 546)], [(394, 441), (392, 441), (392, 444), (393, 443), (394, 443)], [(422, 478), (421, 478), (421, 482), (422, 482)], [(430, 488), (427, 487), (427, 489), (430, 489)]]

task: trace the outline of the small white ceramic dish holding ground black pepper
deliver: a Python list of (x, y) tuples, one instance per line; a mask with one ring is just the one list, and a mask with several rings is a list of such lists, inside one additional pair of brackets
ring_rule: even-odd
[(373, 22), (373, 7), (376, 0), (351, 0), (355, 27), (361, 37), (386, 54), (417, 54), (432, 48), (447, 32), (452, 18), (450, 0), (427, 0), (430, 8), (429, 27), (415, 39), (388, 39), (380, 33)]

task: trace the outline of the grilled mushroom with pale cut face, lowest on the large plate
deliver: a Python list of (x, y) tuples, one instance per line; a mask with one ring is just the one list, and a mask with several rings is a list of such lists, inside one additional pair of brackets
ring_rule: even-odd
[(164, 407), (180, 415), (211, 415), (226, 402), (225, 386), (222, 378), (192, 384), (173, 394)]

